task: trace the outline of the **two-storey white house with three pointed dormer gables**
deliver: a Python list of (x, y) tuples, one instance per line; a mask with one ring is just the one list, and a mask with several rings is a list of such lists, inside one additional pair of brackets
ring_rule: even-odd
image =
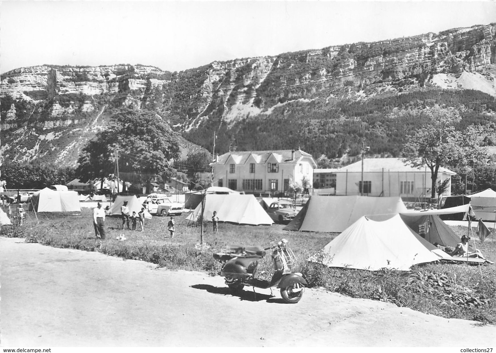
[(301, 150), (234, 151), (217, 155), (213, 167), (213, 185), (244, 191), (247, 194), (283, 195), (292, 182), (309, 187), (317, 163)]

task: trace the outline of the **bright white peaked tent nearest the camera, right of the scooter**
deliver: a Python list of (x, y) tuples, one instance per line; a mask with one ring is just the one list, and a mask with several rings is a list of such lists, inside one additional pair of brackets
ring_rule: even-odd
[(412, 234), (398, 214), (384, 221), (360, 217), (310, 261), (328, 267), (408, 271), (412, 265), (439, 260)]

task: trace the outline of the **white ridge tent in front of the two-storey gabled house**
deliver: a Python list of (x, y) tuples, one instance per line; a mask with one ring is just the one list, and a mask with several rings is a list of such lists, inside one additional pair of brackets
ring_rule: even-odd
[[(274, 223), (253, 195), (243, 194), (207, 194), (203, 219), (211, 221), (213, 212), (217, 211), (220, 222), (250, 225), (270, 225)], [(201, 202), (186, 219), (196, 221), (201, 216)]]

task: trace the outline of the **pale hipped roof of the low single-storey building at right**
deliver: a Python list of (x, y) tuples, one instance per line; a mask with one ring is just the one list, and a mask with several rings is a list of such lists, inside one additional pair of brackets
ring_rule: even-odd
[[(382, 172), (390, 171), (390, 172), (425, 172), (427, 170), (428, 173), (431, 170), (427, 166), (422, 167), (412, 167), (408, 162), (404, 162), (402, 158), (365, 158), (364, 159), (364, 172)], [(362, 160), (358, 162), (352, 163), (345, 167), (339, 168), (336, 170), (336, 173), (354, 173), (354, 172), (362, 172)], [(450, 175), (456, 175), (455, 172), (444, 168), (439, 167), (439, 173), (445, 173)]]

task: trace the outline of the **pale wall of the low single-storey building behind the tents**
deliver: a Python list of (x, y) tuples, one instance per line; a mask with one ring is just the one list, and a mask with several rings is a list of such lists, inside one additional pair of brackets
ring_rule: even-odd
[[(451, 180), (448, 174), (439, 173), (437, 180), (443, 181), (446, 178)], [(360, 181), (362, 173), (357, 172), (336, 172), (336, 195), (360, 195)], [(366, 181), (371, 181), (371, 193), (369, 196), (401, 196), (409, 198), (431, 197), (431, 173), (427, 172), (365, 172), (364, 185)], [(400, 193), (401, 182), (412, 182), (414, 190), (410, 193)], [(382, 193), (383, 192), (383, 193)], [(382, 195), (381, 195), (382, 193)], [(443, 196), (451, 195), (451, 181)]]

